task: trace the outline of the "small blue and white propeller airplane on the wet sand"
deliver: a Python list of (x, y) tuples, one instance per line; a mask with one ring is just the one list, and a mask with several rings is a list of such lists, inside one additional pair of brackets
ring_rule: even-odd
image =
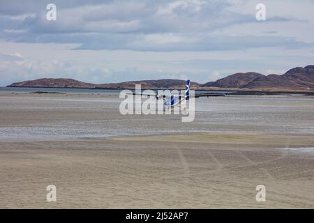
[[(138, 95), (137, 93), (133, 93), (133, 95)], [(142, 94), (145, 96), (152, 96), (153, 94)], [(201, 97), (218, 97), (218, 96), (225, 96), (225, 93), (195, 93), (193, 95), (190, 95), (190, 79), (186, 81), (186, 91), (185, 94), (163, 94), (163, 95), (158, 95), (154, 94), (157, 100), (164, 100), (164, 105), (166, 107), (174, 107), (176, 105), (180, 105), (182, 102), (189, 100), (190, 96), (193, 98), (201, 98)]]

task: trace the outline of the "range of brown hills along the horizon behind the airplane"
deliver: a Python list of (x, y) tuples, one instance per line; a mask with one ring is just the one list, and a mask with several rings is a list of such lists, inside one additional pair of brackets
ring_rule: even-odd
[[(10, 87), (61, 87), (89, 89), (134, 89), (142, 84), (142, 89), (184, 89), (186, 81), (180, 79), (142, 80), (113, 84), (91, 84), (75, 79), (44, 78), (10, 84)], [(284, 75), (262, 75), (257, 72), (239, 72), (218, 79), (216, 82), (198, 84), (191, 82), (191, 89), (239, 89), (251, 91), (314, 91), (314, 66), (293, 68)]]

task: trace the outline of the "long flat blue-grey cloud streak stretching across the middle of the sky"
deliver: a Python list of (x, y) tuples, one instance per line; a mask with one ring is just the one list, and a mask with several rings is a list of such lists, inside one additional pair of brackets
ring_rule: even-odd
[[(306, 48), (314, 43), (304, 43), (293, 38), (272, 36), (219, 36), (211, 34), (175, 35), (167, 33), (59, 33), (40, 35), (31, 34), (18, 37), (21, 43), (32, 43), (36, 38), (40, 43), (80, 43), (74, 49), (129, 49), (135, 51), (227, 51), (258, 47)], [(172, 40), (173, 39), (173, 40)], [(88, 41), (87, 41), (88, 40)]]

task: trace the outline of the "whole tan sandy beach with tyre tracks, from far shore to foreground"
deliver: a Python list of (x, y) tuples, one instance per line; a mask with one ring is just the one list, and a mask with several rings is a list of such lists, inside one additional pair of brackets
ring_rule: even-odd
[[(149, 134), (133, 136), (98, 137), (100, 130), (80, 137), (66, 137), (70, 130), (59, 134), (65, 121), (76, 126), (81, 121), (119, 120), (116, 110), (103, 110), (98, 101), (115, 103), (112, 97), (1, 94), (0, 208), (314, 208), (311, 131), (302, 133), (299, 126), (297, 133), (276, 132), (273, 125), (262, 131), (265, 126), (255, 120), (248, 125), (246, 120), (230, 121), (230, 130), (225, 130), (228, 123), (213, 121), (208, 124), (210, 130), (217, 128), (213, 132), (197, 132), (204, 123), (196, 121), (186, 125), (188, 133), (154, 134), (148, 128)], [(96, 101), (85, 101), (90, 98)], [(74, 104), (82, 102), (84, 108)], [(313, 99), (308, 102), (278, 103), (281, 109), (291, 105), (290, 120), (293, 108), (307, 107), (299, 123), (307, 130), (312, 126), (308, 117), (313, 117)], [(276, 109), (271, 107), (271, 116)], [(103, 125), (114, 130), (110, 122)], [(47, 185), (56, 185), (57, 202), (46, 201)], [(255, 200), (257, 185), (265, 185), (267, 201)]]

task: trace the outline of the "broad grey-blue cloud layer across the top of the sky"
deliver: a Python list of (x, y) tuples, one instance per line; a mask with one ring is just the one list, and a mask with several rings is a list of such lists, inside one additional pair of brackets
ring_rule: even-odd
[[(45, 19), (45, 3), (27, 1), (25, 7), (9, 1), (0, 9), (0, 38), (20, 43), (78, 43), (75, 49), (130, 49), (139, 51), (202, 51), (268, 47), (276, 44), (307, 47), (305, 30), (313, 20), (280, 13), (267, 22), (255, 20), (251, 1), (55, 1), (57, 21)], [(24, 3), (24, 2), (23, 2)], [(24, 5), (24, 4), (23, 4)], [(278, 4), (267, 1), (267, 8)], [(268, 7), (269, 6), (269, 7)], [(304, 7), (302, 7), (304, 8)], [(279, 8), (278, 8), (279, 9)], [(268, 13), (268, 11), (267, 11)], [(289, 24), (302, 24), (294, 33)], [(250, 33), (253, 27), (253, 33)], [(285, 27), (285, 28), (283, 28)], [(299, 26), (300, 27), (300, 26)], [(291, 27), (293, 28), (293, 27)], [(262, 36), (258, 32), (262, 29)], [(284, 29), (284, 30), (283, 30)], [(301, 29), (301, 28), (300, 28)], [(276, 36), (274, 36), (276, 31)], [(308, 35), (306, 35), (308, 36)], [(287, 37), (289, 40), (287, 40)], [(248, 44), (244, 44), (246, 40)], [(310, 41), (306, 41), (307, 44)], [(312, 41), (314, 42), (314, 41)]]

